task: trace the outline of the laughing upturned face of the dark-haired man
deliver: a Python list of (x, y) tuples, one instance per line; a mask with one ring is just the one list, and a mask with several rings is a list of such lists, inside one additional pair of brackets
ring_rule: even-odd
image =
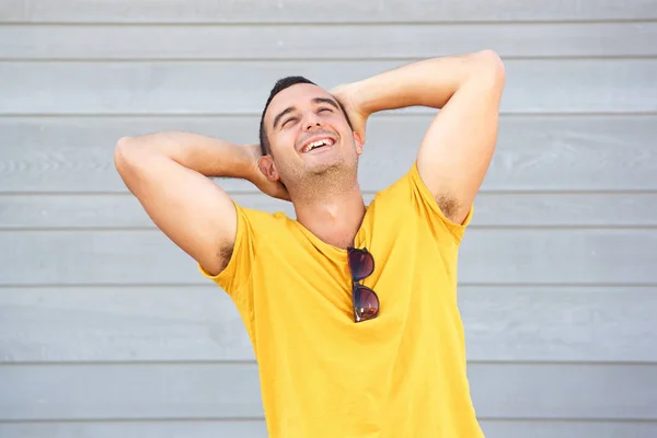
[(337, 101), (320, 87), (302, 83), (281, 91), (272, 100), (264, 123), (273, 157), (265, 157), (261, 169), (265, 166), (265, 174), (280, 178), (288, 189), (316, 175), (356, 176), (362, 153), (359, 138)]

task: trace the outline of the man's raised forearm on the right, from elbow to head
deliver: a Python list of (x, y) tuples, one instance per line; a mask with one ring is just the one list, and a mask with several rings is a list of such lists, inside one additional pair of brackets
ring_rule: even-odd
[(354, 100), (366, 115), (407, 106), (441, 108), (461, 87), (484, 83), (500, 68), (488, 50), (426, 59), (353, 83)]

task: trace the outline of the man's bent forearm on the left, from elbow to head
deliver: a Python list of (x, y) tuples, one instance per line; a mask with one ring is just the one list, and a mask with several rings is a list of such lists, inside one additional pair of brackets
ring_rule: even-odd
[(153, 154), (165, 155), (205, 176), (249, 178), (253, 168), (246, 147), (191, 132), (124, 137), (117, 143), (116, 153), (137, 165)]

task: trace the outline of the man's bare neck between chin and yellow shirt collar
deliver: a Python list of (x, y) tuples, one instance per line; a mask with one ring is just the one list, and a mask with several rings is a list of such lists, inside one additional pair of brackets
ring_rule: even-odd
[(341, 187), (318, 186), (321, 189), (293, 198), (297, 220), (325, 243), (341, 249), (353, 245), (365, 216), (358, 181)]

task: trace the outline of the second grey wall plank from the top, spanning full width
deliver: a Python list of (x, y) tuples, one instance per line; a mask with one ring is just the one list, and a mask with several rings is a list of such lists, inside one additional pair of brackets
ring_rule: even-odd
[(657, 23), (18, 25), (0, 26), (0, 59), (424, 58), (482, 48), (503, 57), (627, 57), (656, 56), (653, 41)]

